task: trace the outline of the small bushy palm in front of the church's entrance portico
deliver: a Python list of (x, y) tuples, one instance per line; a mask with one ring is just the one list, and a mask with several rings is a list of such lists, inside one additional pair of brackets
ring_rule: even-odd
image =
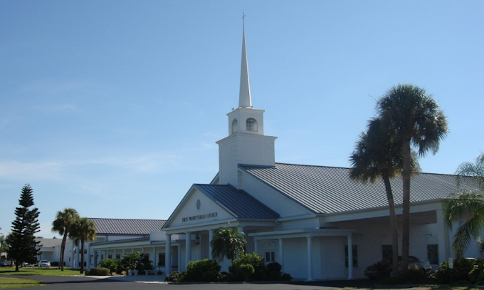
[(212, 247), (212, 257), (223, 261), (224, 257), (230, 260), (236, 259), (237, 255), (245, 252), (247, 245), (245, 234), (238, 232), (237, 229), (228, 227), (219, 227), (214, 233), (214, 238), (210, 242)]

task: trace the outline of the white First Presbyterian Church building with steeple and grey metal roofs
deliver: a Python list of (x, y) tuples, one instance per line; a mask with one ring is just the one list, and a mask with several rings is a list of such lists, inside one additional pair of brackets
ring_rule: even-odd
[[(242, 43), (238, 108), (227, 114), (227, 137), (216, 142), (218, 174), (209, 184), (191, 185), (166, 221), (117, 220), (110, 234), (100, 233), (86, 247), (88, 268), (100, 259), (144, 252), (165, 274), (184, 271), (189, 261), (211, 259), (214, 232), (229, 226), (245, 234), (246, 252), (261, 254), (267, 263), (277, 261), (299, 280), (363, 278), (366, 266), (391, 256), (383, 182), (354, 182), (344, 167), (275, 162), (277, 137), (265, 135), (264, 110), (253, 108), (245, 31)], [(401, 232), (401, 179), (391, 185)], [(442, 204), (455, 190), (454, 175), (412, 178), (412, 256), (433, 265), (453, 256), (454, 232), (444, 223)], [(105, 227), (112, 221), (97, 222)], [(140, 224), (149, 227), (144, 232), (127, 229)], [(470, 247), (465, 254), (472, 257), (477, 251)], [(222, 271), (230, 262), (221, 262)]]

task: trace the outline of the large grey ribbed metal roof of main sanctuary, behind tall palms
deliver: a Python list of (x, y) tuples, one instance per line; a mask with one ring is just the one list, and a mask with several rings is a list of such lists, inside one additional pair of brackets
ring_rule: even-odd
[[(366, 185), (349, 179), (349, 168), (276, 163), (275, 167), (239, 165), (283, 195), (315, 213), (345, 212), (388, 205), (381, 179)], [(401, 178), (391, 180), (396, 204), (401, 204)], [(456, 176), (419, 173), (411, 179), (411, 202), (436, 200), (456, 191)]]

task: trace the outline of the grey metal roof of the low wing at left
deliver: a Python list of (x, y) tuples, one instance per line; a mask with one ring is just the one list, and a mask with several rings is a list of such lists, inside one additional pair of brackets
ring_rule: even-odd
[(160, 231), (164, 219), (100, 219), (89, 218), (94, 222), (97, 234), (149, 234)]

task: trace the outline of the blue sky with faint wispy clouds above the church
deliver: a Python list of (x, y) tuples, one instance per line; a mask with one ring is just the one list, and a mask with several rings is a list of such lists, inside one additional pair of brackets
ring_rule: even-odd
[(484, 150), (483, 1), (1, 1), (0, 227), (30, 183), (58, 210), (167, 219), (218, 172), (238, 105), (242, 12), (253, 106), (276, 162), (349, 167), (375, 100), (426, 88), (450, 133), (423, 172)]

